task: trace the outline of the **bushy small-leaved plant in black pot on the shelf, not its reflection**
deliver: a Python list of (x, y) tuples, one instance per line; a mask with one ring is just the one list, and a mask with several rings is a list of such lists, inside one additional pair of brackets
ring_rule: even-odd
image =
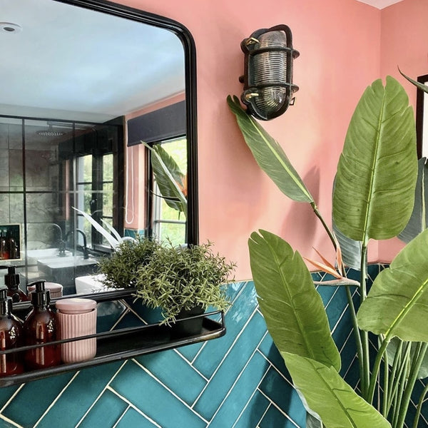
[[(200, 315), (208, 307), (225, 310), (230, 305), (225, 285), (233, 280), (229, 277), (235, 263), (214, 253), (212, 245), (158, 245), (151, 260), (138, 268), (136, 297), (148, 307), (161, 307), (163, 324)], [(198, 321), (198, 325), (190, 327), (188, 322), (178, 322), (175, 333), (182, 327), (191, 330), (186, 334), (200, 332), (202, 317), (189, 321)]]

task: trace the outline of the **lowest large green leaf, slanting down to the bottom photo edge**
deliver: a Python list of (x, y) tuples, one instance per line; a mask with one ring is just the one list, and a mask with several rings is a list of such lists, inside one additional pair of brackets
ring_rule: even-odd
[(384, 417), (352, 389), (340, 375), (320, 362), (281, 352), (295, 387), (326, 428), (387, 428)]

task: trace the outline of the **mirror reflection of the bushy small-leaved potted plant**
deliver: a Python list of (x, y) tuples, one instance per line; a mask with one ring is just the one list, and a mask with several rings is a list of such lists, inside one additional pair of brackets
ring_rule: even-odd
[(137, 235), (135, 240), (123, 240), (116, 250), (98, 261), (98, 272), (104, 275), (103, 285), (113, 288), (136, 287), (138, 268), (146, 265), (160, 244)]

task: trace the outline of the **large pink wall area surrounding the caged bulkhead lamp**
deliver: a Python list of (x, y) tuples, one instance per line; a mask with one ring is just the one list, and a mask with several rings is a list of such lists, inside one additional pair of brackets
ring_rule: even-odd
[(295, 106), (265, 126), (280, 142), (331, 217), (337, 158), (362, 91), (379, 76), (380, 11), (355, 0), (121, 0), (188, 27), (198, 58), (200, 241), (214, 241), (251, 277), (247, 241), (265, 228), (307, 257), (312, 246), (332, 255), (309, 205), (292, 203), (260, 172), (225, 102), (240, 95), (240, 41), (253, 31), (287, 24), (300, 57)]

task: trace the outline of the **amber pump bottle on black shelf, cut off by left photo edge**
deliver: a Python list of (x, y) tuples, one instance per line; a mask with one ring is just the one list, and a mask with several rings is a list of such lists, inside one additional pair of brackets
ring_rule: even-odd
[[(22, 345), (22, 324), (12, 314), (12, 299), (7, 287), (0, 287), (0, 350), (6, 351)], [(0, 355), (0, 376), (24, 372), (22, 352)]]

